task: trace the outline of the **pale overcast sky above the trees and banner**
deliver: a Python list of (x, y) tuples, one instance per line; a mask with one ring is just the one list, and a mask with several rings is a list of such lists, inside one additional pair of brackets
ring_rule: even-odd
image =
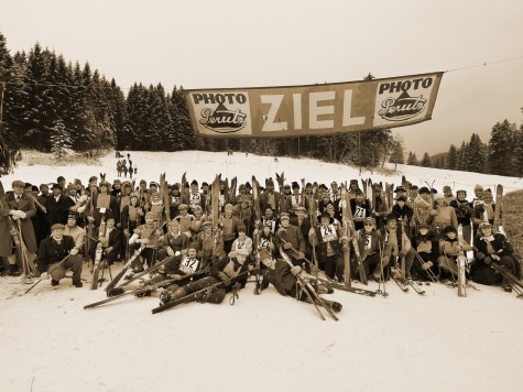
[(433, 120), (396, 128), (406, 149), (446, 151), (500, 120), (523, 122), (522, 0), (0, 0), (13, 54), (39, 41), (89, 61), (126, 92), (282, 86), (448, 70)]

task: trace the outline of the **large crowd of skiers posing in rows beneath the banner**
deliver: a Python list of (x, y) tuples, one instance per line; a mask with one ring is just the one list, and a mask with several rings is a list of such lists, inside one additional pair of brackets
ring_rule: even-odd
[[(81, 269), (95, 258), (98, 243), (109, 265), (135, 254), (134, 274), (162, 263), (156, 280), (177, 276), (182, 283), (184, 275), (209, 270), (214, 280), (229, 283), (225, 291), (238, 288), (231, 281), (248, 265), (264, 271), (262, 288), (271, 283), (288, 295), (295, 295), (302, 270), (320, 271), (338, 283), (347, 275), (355, 281), (391, 275), (428, 280), (432, 273), (454, 280), (460, 252), (473, 252), (468, 272), (475, 282), (501, 283), (510, 291), (510, 282), (490, 268), (492, 262), (521, 279), (510, 241), (492, 230), (492, 193), (480, 185), (471, 200), (462, 189), (454, 195), (445, 186), (439, 194), (407, 182), (390, 195), (380, 184), (363, 188), (366, 195), (357, 179), (347, 189), (337, 182), (330, 186), (293, 182), (280, 192), (272, 178), (260, 189), (249, 182), (239, 184), (238, 192), (224, 181), (218, 186), (219, 193), (214, 193), (218, 200), (213, 200), (211, 186), (196, 179), (190, 184), (142, 179), (135, 186), (131, 181), (116, 178), (110, 184), (91, 176), (84, 186), (80, 179), (67, 184), (61, 176), (39, 187), (14, 181), (0, 209), (1, 268), (10, 275), (25, 272), (17, 258), (14, 228), (21, 232), (29, 262), (37, 266), (37, 274), (48, 274), (53, 285), (70, 269), (73, 284), (81, 287)], [(350, 271), (345, 271), (347, 257)], [(171, 285), (164, 301), (209, 283), (197, 282)], [(209, 301), (220, 302), (225, 291)]]

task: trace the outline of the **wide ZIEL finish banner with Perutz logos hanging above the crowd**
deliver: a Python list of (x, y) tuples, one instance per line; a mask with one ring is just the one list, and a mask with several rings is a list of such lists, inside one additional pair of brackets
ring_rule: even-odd
[(186, 90), (195, 133), (294, 138), (429, 120), (443, 73), (309, 86)]

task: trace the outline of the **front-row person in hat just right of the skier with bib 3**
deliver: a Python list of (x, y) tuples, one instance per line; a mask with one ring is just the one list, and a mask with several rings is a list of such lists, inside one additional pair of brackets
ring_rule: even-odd
[(396, 279), (408, 277), (414, 261), (411, 239), (402, 226), (397, 225), (397, 217), (394, 213), (385, 216), (385, 226), (380, 229), (380, 235), (383, 238), (382, 258), (384, 264), (388, 265), (386, 270), (394, 273)]

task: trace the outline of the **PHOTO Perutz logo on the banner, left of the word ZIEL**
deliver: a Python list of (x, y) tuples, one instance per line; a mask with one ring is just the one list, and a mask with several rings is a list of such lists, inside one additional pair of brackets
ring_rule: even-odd
[(218, 105), (216, 108), (204, 107), (200, 110), (199, 123), (214, 132), (232, 133), (247, 126), (247, 113), (225, 106), (226, 102), (232, 107), (246, 104), (247, 97), (243, 94), (193, 94), (193, 101), (195, 106)]

